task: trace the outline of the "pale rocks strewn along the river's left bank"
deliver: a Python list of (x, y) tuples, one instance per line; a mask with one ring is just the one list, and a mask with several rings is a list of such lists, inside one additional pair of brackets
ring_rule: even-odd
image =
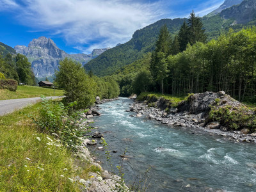
[[(100, 104), (104, 102), (113, 101), (116, 99), (104, 99), (100, 100)], [(93, 116), (100, 115), (99, 112), (97, 112), (98, 106), (94, 106), (92, 109), (90, 109), (86, 113), (81, 113), (81, 128), (86, 127), (92, 127), (90, 126), (93, 122), (92, 118)], [(97, 128), (97, 127), (92, 127)], [(92, 136), (93, 140), (89, 140), (87, 136)], [(93, 157), (90, 154), (90, 151), (88, 150), (88, 145), (95, 145), (97, 144), (97, 140), (95, 138), (102, 138), (103, 134), (100, 134), (100, 132), (94, 132), (93, 134), (88, 134), (83, 138), (83, 143), (77, 147), (77, 156), (83, 161), (89, 162), (88, 164), (97, 167), (97, 169), (100, 170), (100, 172), (90, 172), (89, 177), (90, 180), (84, 180), (80, 177), (74, 178), (74, 182), (79, 182), (81, 184), (81, 191), (90, 191), (90, 192), (110, 192), (110, 191), (118, 191), (120, 189), (124, 189), (124, 191), (128, 191), (127, 186), (125, 186), (124, 182), (122, 181), (121, 177), (118, 175), (114, 175), (112, 173), (109, 173), (108, 170), (104, 170), (102, 166), (100, 166), (100, 161), (97, 161), (95, 157)], [(102, 147), (103, 150), (103, 147)], [(79, 166), (77, 166), (77, 169), (79, 169)]]

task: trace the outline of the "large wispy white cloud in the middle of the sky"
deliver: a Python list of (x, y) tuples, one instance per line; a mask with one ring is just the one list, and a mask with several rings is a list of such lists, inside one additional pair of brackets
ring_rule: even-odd
[(159, 18), (157, 3), (130, 0), (26, 0), (19, 18), (25, 25), (61, 35), (69, 45), (88, 44), (86, 52), (113, 47)]

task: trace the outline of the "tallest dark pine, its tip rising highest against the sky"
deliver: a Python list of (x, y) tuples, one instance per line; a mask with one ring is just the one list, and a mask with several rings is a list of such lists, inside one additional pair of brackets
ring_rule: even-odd
[(194, 45), (196, 42), (206, 42), (207, 36), (205, 34), (205, 29), (203, 29), (203, 23), (200, 17), (196, 17), (195, 12), (190, 13), (188, 19), (188, 29), (189, 29), (189, 43)]

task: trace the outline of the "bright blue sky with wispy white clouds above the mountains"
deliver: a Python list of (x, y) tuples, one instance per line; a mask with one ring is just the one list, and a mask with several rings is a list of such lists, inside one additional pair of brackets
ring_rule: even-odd
[(0, 42), (14, 47), (46, 36), (68, 53), (90, 53), (131, 39), (160, 19), (200, 17), (224, 0), (0, 0)]

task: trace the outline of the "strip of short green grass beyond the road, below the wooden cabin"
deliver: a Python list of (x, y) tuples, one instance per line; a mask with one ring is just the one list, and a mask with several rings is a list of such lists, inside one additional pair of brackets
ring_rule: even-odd
[(47, 96), (61, 96), (63, 95), (63, 90), (53, 90), (49, 88), (41, 88), (38, 86), (18, 86), (16, 92), (11, 92), (9, 90), (0, 89), (0, 100), (5, 99), (20, 99), (29, 97), (41, 97), (41, 95)]

